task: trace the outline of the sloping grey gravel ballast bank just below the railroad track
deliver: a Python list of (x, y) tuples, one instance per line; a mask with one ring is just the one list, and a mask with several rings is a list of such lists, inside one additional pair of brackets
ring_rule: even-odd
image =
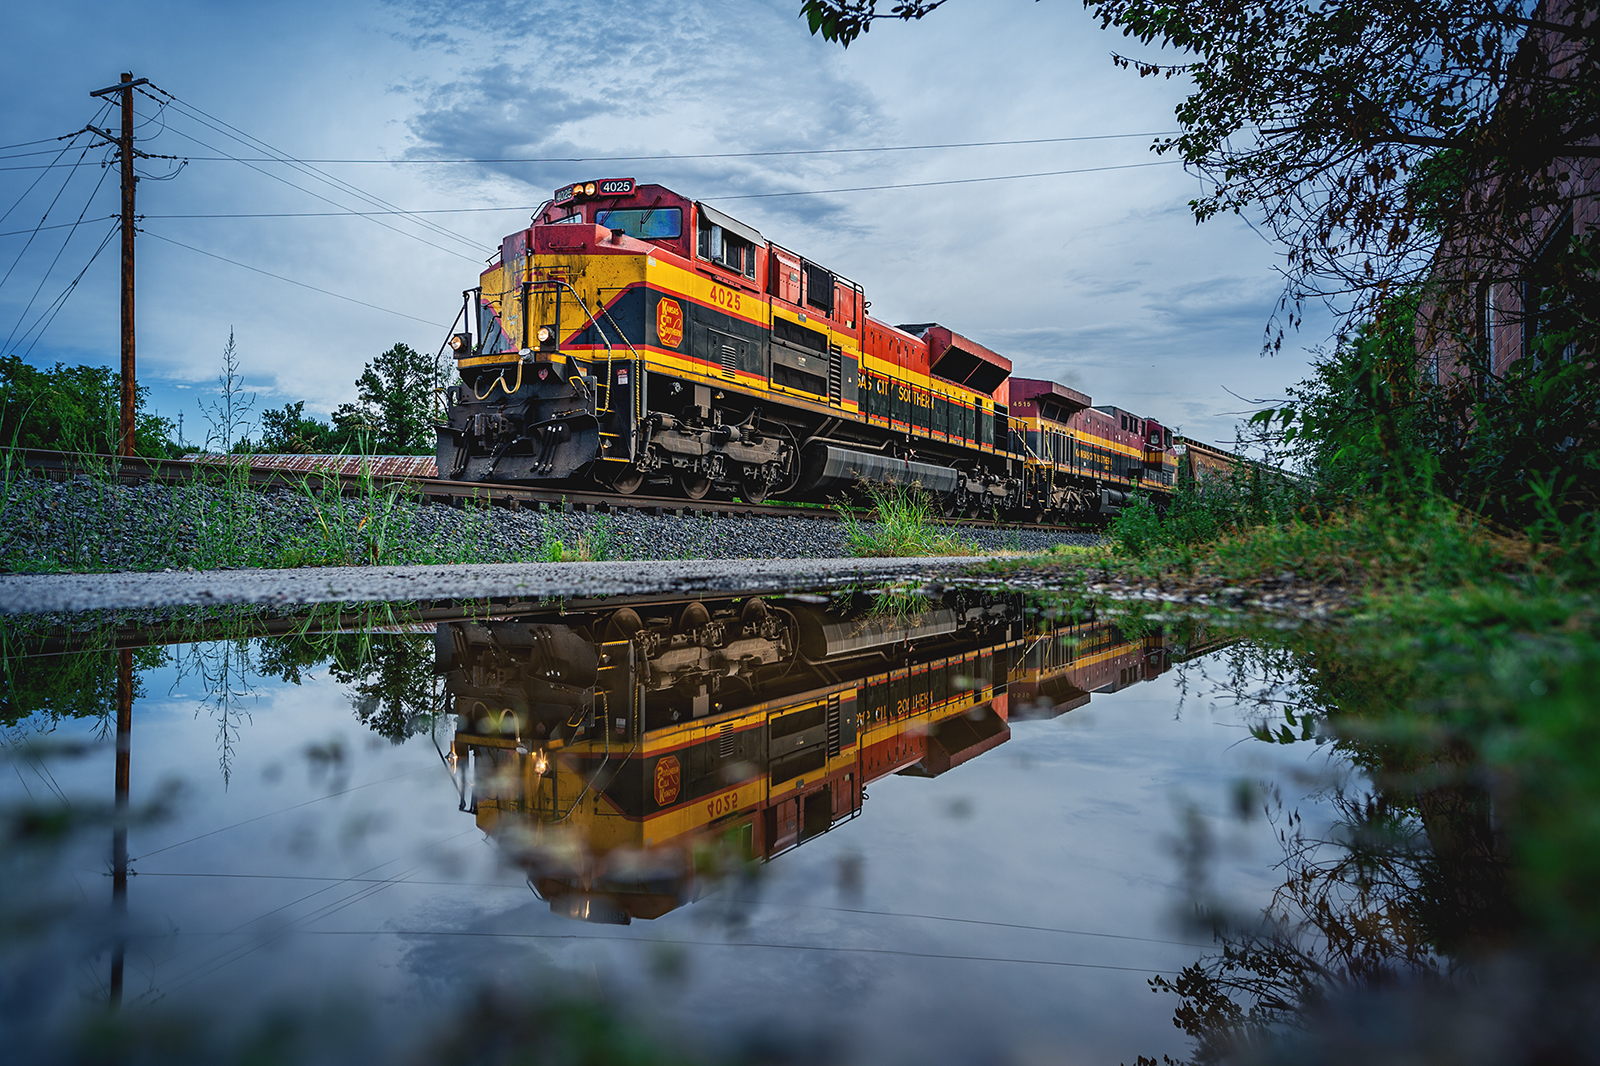
[[(730, 504), (730, 509), (736, 504)], [(869, 527), (870, 528), (870, 527)], [(978, 552), (1096, 544), (1098, 535), (954, 530)], [(0, 509), (8, 570), (182, 570), (326, 562), (459, 563), (547, 559), (554, 541), (595, 559), (837, 559), (843, 523), (810, 517), (702, 517), (461, 511), (408, 499), (314, 499), (304, 491), (205, 485), (18, 480)], [(342, 557), (330, 555), (330, 544)], [(379, 554), (381, 552), (381, 554)]]

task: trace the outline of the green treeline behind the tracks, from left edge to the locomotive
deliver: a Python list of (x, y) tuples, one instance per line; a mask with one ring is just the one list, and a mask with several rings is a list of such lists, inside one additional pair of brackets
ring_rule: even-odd
[[(176, 439), (178, 424), (149, 410), (149, 387), (138, 386), (134, 453), (176, 458), (186, 451), (237, 455), (432, 455), (438, 391), (448, 370), (435, 357), (395, 344), (362, 368), (357, 399), (323, 421), (306, 402), (253, 418), (254, 394), (243, 387), (232, 336), (224, 349), (219, 395), (202, 402), (208, 419), (197, 442)], [(30, 367), (0, 359), (0, 445), (114, 455), (118, 447), (122, 375), (109, 367), (56, 363)]]

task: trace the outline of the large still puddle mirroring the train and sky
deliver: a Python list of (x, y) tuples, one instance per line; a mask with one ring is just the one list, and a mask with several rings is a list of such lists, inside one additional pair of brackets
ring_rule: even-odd
[(1021, 594), (453, 613), (8, 637), (0, 802), (72, 813), (8, 848), (6, 895), (53, 901), (8, 952), (30, 1039), (118, 996), (224, 1028), (333, 997), (382, 1044), (494, 989), (715, 1056), (1182, 1055), (1147, 981), (1213, 949), (1186, 892), (1282, 882), (1240, 783), (1338, 770), (1240, 743), (1229, 687), (1282, 667), (1226, 632)]

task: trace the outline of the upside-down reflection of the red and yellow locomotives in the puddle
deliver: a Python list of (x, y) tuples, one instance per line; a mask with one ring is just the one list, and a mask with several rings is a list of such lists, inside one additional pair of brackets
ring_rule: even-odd
[(936, 776), (1021, 715), (1162, 672), (1160, 637), (1054, 624), (1021, 597), (690, 600), (448, 623), (464, 804), (554, 911), (658, 917), (718, 872), (861, 812), (888, 773)]

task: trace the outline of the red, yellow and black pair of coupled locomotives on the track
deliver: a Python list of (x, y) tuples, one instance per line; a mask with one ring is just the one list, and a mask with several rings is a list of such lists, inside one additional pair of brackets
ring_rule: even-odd
[(830, 499), (917, 485), (947, 515), (1083, 519), (1173, 485), (1171, 432), (632, 178), (558, 189), (462, 295), (438, 475), (618, 495)]

